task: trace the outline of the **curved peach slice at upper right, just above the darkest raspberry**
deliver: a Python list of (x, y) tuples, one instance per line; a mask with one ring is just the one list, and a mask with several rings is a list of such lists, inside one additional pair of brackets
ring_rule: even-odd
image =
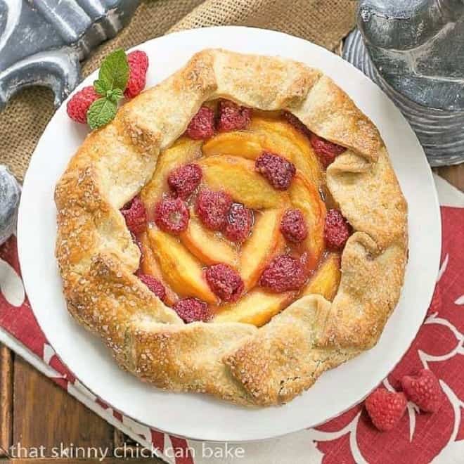
[(264, 136), (264, 149), (288, 158), (315, 186), (321, 185), (321, 163), (308, 138), (295, 127), (285, 121), (254, 117), (250, 130), (255, 136)]

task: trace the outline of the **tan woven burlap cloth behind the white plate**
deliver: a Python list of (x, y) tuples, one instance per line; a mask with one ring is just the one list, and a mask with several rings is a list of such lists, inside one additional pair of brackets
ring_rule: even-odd
[[(335, 51), (354, 25), (355, 9), (354, 0), (143, 1), (129, 25), (86, 60), (83, 75), (95, 70), (112, 49), (127, 49), (167, 32), (194, 27), (263, 27), (288, 32)], [(0, 112), (0, 163), (8, 165), (18, 179), (22, 180), (54, 110), (51, 91), (32, 87), (17, 94)]]

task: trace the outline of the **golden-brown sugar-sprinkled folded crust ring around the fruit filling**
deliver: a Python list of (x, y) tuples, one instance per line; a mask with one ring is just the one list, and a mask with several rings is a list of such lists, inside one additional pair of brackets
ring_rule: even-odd
[[(153, 175), (204, 101), (292, 111), (349, 148), (327, 185), (355, 233), (333, 303), (302, 297), (266, 326), (185, 324), (134, 272), (140, 252), (120, 208)], [(282, 58), (205, 50), (90, 134), (56, 186), (56, 255), (70, 313), (122, 366), (161, 388), (247, 405), (290, 401), (380, 337), (406, 263), (406, 202), (375, 126), (331, 79)]]

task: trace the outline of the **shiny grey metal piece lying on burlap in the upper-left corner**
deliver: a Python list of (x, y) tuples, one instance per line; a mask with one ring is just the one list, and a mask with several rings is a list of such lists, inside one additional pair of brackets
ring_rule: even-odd
[(0, 110), (19, 89), (51, 88), (58, 106), (79, 61), (127, 24), (138, 0), (0, 0)]

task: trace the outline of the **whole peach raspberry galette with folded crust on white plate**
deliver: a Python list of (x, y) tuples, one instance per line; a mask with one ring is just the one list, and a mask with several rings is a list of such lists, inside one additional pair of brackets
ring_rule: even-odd
[(290, 401), (373, 347), (403, 283), (377, 129), (283, 58), (197, 53), (86, 138), (56, 205), (70, 313), (169, 390)]

